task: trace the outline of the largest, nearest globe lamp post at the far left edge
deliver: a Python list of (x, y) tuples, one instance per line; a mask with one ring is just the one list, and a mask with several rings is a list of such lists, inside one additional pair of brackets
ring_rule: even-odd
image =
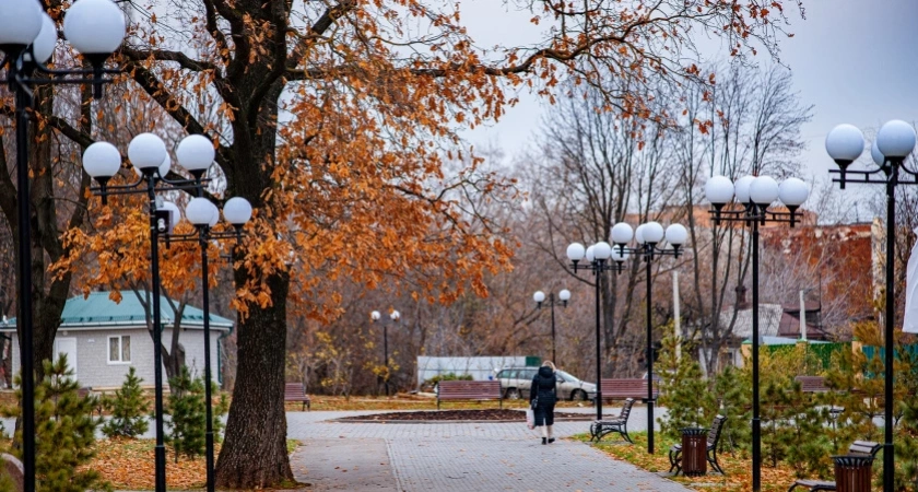
[(35, 103), (33, 89), (38, 84), (92, 84), (93, 97), (102, 97), (105, 61), (125, 39), (127, 23), (121, 10), (110, 0), (79, 0), (67, 11), (63, 35), (92, 65), (91, 69), (49, 69), (45, 63), (57, 46), (57, 25), (36, 0), (0, 0), (0, 68), (15, 95), (16, 125), (16, 226), (19, 257), (20, 354), (22, 361), (23, 490), (35, 490), (35, 376), (32, 321), (32, 201), (28, 197), (28, 112)]

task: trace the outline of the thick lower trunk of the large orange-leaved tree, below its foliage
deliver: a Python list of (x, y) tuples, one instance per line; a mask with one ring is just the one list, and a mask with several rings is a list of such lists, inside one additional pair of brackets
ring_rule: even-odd
[(237, 332), (236, 388), (216, 462), (217, 488), (252, 489), (293, 480), (284, 414), (290, 277), (273, 276), (268, 283), (274, 304), (263, 309), (252, 306)]

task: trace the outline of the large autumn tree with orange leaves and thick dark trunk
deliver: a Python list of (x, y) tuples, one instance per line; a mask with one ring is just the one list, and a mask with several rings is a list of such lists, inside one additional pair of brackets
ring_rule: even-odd
[[(508, 38), (491, 51), (469, 37), (458, 2), (127, 3), (130, 35), (115, 57), (125, 83), (186, 132), (211, 138), (226, 177), (216, 198), (245, 197), (256, 209), (233, 254), (238, 368), (219, 487), (293, 478), (283, 408), (286, 320), (332, 316), (337, 295), (328, 279), (374, 288), (414, 269), (426, 273), (407, 286), (416, 297), (449, 302), (468, 289), (486, 295), (483, 277), (507, 267), (510, 245), (460, 197), (515, 199), (515, 189), (481, 172), (475, 159), (444, 171), (445, 160), (469, 153), (458, 130), (499, 118), (516, 91), (551, 99), (564, 79), (575, 87), (628, 80), (633, 90), (604, 91), (601, 108), (663, 120), (668, 115), (651, 109), (652, 86), (643, 84), (651, 75), (706, 83), (690, 61), (691, 34), (720, 36), (734, 56), (774, 51), (788, 3), (799, 7), (509, 0), (508, 8), (532, 12), (543, 37), (525, 48)], [(48, 122), (85, 145), (95, 137), (86, 118)], [(85, 188), (85, 176), (81, 183)], [(113, 207), (119, 204), (127, 202)], [(103, 222), (125, 213), (95, 200), (90, 208)], [(71, 237), (67, 261), (74, 268), (87, 265), (79, 255), (99, 253), (94, 239)]]

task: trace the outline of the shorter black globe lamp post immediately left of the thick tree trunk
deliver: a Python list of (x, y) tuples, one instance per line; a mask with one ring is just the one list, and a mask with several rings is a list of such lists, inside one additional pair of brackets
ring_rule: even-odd
[[(193, 139), (193, 140), (192, 140)], [(207, 147), (204, 147), (207, 144)], [(185, 153), (183, 145), (186, 145)], [(188, 147), (195, 145), (200, 149), (200, 152), (195, 152), (196, 155), (187, 155)], [(210, 140), (201, 136), (191, 136), (181, 141), (176, 155), (180, 162), (187, 162), (191, 159), (205, 159), (210, 150), (210, 160), (213, 161), (213, 145)], [(185, 155), (184, 155), (185, 154)], [(185, 160), (183, 160), (185, 157)], [(199, 190), (200, 192), (201, 190)], [(176, 214), (177, 216), (177, 214)], [(216, 239), (235, 239), (236, 243), (242, 238), (243, 226), (251, 219), (251, 204), (245, 198), (231, 198), (223, 206), (223, 216), (233, 226), (233, 231), (214, 231), (213, 227), (220, 222), (220, 209), (207, 198), (192, 198), (185, 207), (185, 218), (197, 230), (190, 234), (167, 234), (164, 239), (167, 242), (197, 242), (201, 247), (201, 290), (202, 290), (202, 307), (204, 316), (204, 401), (207, 405), (207, 434), (205, 434), (205, 461), (207, 461), (207, 490), (214, 492), (214, 450), (213, 450), (213, 401), (211, 397), (211, 337), (210, 337), (210, 271), (208, 265), (208, 246), (212, 241)]]

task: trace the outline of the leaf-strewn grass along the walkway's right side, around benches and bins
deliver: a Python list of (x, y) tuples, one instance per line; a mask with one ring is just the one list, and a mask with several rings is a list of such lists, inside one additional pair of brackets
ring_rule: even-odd
[[(599, 444), (593, 444), (602, 452), (624, 461), (628, 461), (648, 471), (661, 473), (671, 480), (680, 482), (685, 487), (696, 490), (717, 490), (723, 492), (746, 492), (752, 490), (752, 461), (744, 452), (721, 453), (718, 455), (718, 462), (723, 468), (726, 476), (711, 472), (708, 465), (708, 475), (704, 477), (670, 477), (669, 449), (676, 442), (666, 437), (661, 433), (654, 434), (654, 455), (647, 454), (647, 433), (628, 433), (635, 444), (617, 440), (616, 434), (610, 434)], [(589, 442), (588, 434), (578, 434), (573, 438)], [(795, 470), (788, 466), (778, 468), (762, 467), (762, 491), (784, 492), (793, 481)]]

